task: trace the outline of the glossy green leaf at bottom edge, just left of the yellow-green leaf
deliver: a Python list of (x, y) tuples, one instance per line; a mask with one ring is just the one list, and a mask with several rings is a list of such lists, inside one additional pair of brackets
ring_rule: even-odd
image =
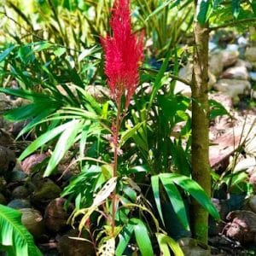
[(142, 253), (142, 256), (153, 256), (153, 248), (148, 236), (148, 230), (142, 220), (131, 218), (131, 224), (134, 225), (134, 233), (137, 241), (137, 246)]

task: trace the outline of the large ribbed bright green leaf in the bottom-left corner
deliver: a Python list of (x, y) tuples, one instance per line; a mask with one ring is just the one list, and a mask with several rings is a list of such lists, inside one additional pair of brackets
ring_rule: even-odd
[(0, 205), (0, 244), (13, 247), (15, 255), (41, 256), (32, 235), (21, 224), (21, 212)]

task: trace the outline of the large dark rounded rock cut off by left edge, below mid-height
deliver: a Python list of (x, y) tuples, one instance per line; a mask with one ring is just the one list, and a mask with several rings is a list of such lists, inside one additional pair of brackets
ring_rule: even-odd
[(0, 146), (0, 160), (0, 176), (9, 180), (10, 174), (16, 164), (15, 153), (9, 150), (9, 148)]

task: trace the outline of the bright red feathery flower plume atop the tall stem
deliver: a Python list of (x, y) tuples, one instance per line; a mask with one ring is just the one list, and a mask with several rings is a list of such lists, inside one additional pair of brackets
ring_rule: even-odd
[(102, 38), (105, 73), (113, 99), (119, 103), (125, 95), (127, 108), (138, 83), (138, 67), (143, 59), (143, 35), (131, 32), (130, 0), (115, 0), (110, 26), (113, 37)]

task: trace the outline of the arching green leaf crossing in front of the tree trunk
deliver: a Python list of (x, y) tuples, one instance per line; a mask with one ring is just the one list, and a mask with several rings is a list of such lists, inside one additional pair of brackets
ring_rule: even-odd
[(210, 200), (207, 193), (193, 179), (179, 175), (177, 173), (162, 173), (160, 176), (166, 179), (171, 179), (173, 183), (176, 183), (185, 191), (189, 192), (189, 194), (192, 195), (195, 200), (201, 204), (202, 207), (207, 209), (213, 218), (220, 219), (218, 211), (213, 206), (212, 201)]

